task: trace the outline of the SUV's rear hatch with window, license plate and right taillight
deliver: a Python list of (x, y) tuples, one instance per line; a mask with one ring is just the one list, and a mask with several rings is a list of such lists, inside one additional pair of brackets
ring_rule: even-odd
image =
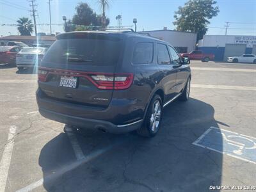
[(131, 74), (115, 74), (123, 47), (122, 34), (58, 35), (38, 68), (39, 87), (51, 99), (106, 108), (113, 90), (131, 85)]

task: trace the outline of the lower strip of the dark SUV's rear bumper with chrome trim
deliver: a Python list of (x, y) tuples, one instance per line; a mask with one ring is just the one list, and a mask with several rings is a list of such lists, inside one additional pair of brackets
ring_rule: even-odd
[(77, 116), (70, 116), (70, 115), (65, 115), (63, 113), (56, 113), (54, 111), (49, 111), (43, 108), (39, 108), (39, 112), (45, 118), (49, 118), (51, 120), (55, 120), (63, 124), (81, 127), (84, 129), (99, 129), (102, 131), (116, 133), (116, 134), (134, 131), (140, 128), (143, 122), (143, 120), (137, 120), (136, 122), (132, 122), (130, 124), (115, 125), (115, 124), (112, 124), (111, 122), (107, 122), (103, 120), (95, 120), (95, 119), (89, 119), (89, 118), (81, 118)]

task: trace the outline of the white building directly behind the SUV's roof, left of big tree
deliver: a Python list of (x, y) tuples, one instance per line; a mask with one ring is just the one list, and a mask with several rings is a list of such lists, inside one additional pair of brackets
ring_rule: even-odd
[(178, 52), (190, 52), (195, 50), (196, 33), (168, 29), (143, 31), (143, 33), (148, 33), (151, 36), (170, 43)]

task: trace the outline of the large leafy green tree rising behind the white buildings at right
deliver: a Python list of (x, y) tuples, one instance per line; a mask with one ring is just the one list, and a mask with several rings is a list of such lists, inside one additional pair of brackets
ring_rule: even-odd
[(219, 8), (214, 0), (189, 0), (175, 12), (173, 24), (178, 31), (197, 33), (197, 41), (207, 32), (209, 19), (218, 15)]

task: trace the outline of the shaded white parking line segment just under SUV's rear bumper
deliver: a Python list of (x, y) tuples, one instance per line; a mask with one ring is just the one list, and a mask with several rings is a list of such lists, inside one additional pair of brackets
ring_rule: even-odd
[(67, 125), (65, 126), (65, 131), (67, 131), (68, 138), (70, 140), (70, 143), (71, 143), (72, 148), (76, 155), (76, 159), (77, 160), (84, 159), (84, 154), (83, 154), (83, 151), (81, 150), (81, 147), (77, 141), (76, 134), (74, 134), (72, 132), (72, 129), (70, 127), (68, 127)]

